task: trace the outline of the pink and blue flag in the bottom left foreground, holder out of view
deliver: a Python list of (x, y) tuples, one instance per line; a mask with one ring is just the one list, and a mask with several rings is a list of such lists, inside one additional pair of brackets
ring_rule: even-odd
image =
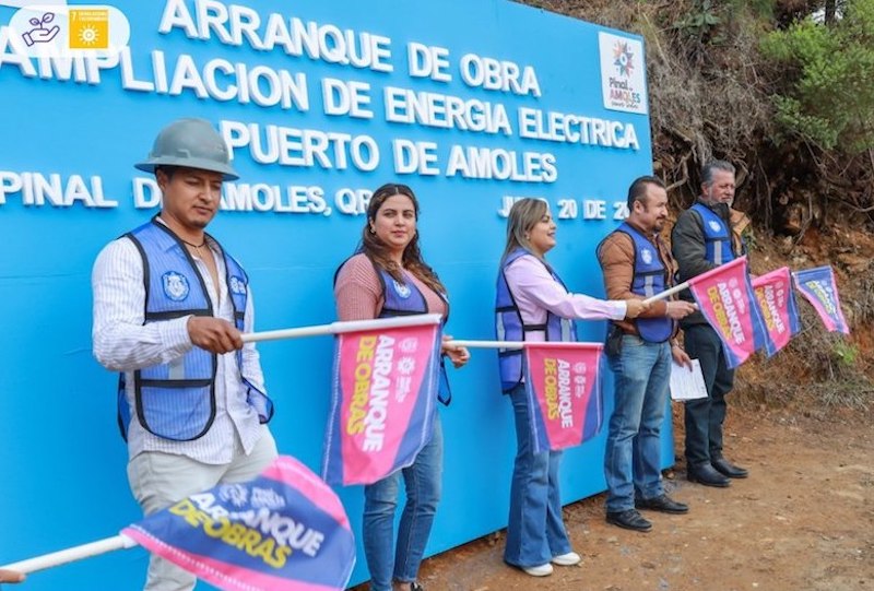
[(253, 481), (191, 495), (121, 533), (225, 591), (342, 590), (355, 564), (340, 499), (290, 457)]

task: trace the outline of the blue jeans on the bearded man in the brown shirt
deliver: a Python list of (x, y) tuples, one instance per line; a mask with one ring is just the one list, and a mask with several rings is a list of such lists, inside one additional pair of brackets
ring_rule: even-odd
[(671, 345), (622, 339), (622, 353), (607, 356), (615, 374), (614, 409), (604, 453), (607, 511), (634, 509), (635, 494), (650, 499), (664, 493), (660, 430), (668, 405)]

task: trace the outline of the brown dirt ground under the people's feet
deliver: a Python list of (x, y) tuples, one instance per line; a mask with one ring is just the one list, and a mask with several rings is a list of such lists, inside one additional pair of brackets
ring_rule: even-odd
[(871, 415), (729, 414), (727, 457), (751, 476), (689, 483), (678, 444), (665, 484), (688, 515), (647, 511), (649, 533), (622, 530), (601, 495), (565, 508), (580, 566), (524, 575), (501, 562), (501, 531), (426, 560), (420, 580), (427, 591), (874, 591)]

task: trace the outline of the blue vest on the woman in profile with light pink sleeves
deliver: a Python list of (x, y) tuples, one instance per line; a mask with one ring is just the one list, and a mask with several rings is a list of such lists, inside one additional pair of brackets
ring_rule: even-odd
[[(529, 332), (545, 332), (546, 341), (574, 342), (577, 340), (577, 328), (572, 320), (556, 316), (546, 310), (546, 322), (543, 324), (525, 324), (522, 321), (522, 314), (516, 304), (509, 285), (507, 284), (507, 268), (520, 257), (534, 257), (524, 248), (517, 248), (507, 255), (500, 264), (498, 273), (497, 294), (495, 297), (495, 333), (498, 341), (524, 341)], [(555, 271), (543, 262), (542, 259), (534, 257), (543, 263), (555, 281), (565, 287), (564, 282), (555, 274)], [(565, 287), (567, 289), (567, 287)], [(498, 368), (500, 370), (500, 387), (505, 392), (509, 392), (522, 381), (522, 350), (500, 348), (498, 350)]]

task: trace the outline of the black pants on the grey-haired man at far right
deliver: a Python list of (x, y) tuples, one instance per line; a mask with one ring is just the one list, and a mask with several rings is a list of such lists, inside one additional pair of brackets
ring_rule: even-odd
[(686, 463), (710, 463), (722, 457), (722, 423), (725, 421), (725, 394), (734, 386), (734, 369), (725, 365), (722, 342), (709, 324), (685, 329), (686, 353), (701, 364), (707, 398), (686, 401)]

